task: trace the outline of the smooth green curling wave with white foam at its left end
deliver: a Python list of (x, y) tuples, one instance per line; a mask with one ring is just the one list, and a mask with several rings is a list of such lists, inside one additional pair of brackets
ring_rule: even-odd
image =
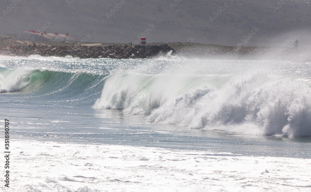
[(77, 97), (97, 86), (101, 76), (83, 72), (50, 70), (2, 69), (0, 93), (28, 93), (32, 97)]

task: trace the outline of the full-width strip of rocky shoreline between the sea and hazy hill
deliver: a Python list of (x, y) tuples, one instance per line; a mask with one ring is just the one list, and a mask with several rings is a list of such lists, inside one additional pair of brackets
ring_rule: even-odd
[[(14, 44), (14, 41), (9, 41)], [(47, 42), (20, 42), (20, 45), (0, 45), (2, 56), (72, 56), (77, 58), (151, 58), (158, 55), (166, 55), (174, 50), (175, 55), (187, 58), (209, 58), (209, 59), (247, 59), (247, 60), (289, 60), (289, 61), (311, 61), (309, 49), (299, 47), (233, 47), (200, 43), (171, 42), (168, 44), (152, 43), (146, 47), (140, 45), (130, 46), (128, 44), (101, 44), (87, 43), (75, 44), (72, 42), (64, 45), (48, 45)], [(31, 44), (30, 44), (31, 43)], [(58, 44), (61, 44), (58, 42)], [(173, 54), (174, 55), (174, 54)]]

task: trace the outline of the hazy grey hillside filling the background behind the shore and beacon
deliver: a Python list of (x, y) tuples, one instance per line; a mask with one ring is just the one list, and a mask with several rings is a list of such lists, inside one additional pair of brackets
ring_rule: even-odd
[[(311, 5), (298, 0), (15, 0), (17, 5), (13, 2), (0, 2), (1, 37), (22, 30), (44, 29), (49, 21), (52, 24), (47, 32), (69, 33), (90, 42), (134, 42), (139, 40), (140, 33), (147, 32), (147, 42), (249, 46), (272, 42), (271, 37), (279, 37), (281, 41), (283, 33), (308, 32), (311, 28)], [(305, 33), (284, 37), (306, 42)]]

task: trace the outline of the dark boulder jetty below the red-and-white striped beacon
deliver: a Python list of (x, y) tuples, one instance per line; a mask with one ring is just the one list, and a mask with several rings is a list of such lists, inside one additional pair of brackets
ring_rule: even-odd
[(146, 45), (129, 46), (128, 44), (113, 44), (102, 46), (55, 46), (55, 45), (19, 45), (19, 46), (0, 46), (0, 54), (7, 56), (72, 56), (82, 59), (88, 58), (151, 58), (159, 54), (166, 55), (169, 51), (174, 51), (169, 45)]

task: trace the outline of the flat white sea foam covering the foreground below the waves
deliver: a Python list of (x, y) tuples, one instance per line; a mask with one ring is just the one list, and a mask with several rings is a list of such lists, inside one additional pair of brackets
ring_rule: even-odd
[(1, 185), (1, 191), (309, 191), (311, 187), (309, 159), (17, 140), (10, 147), (10, 188)]

